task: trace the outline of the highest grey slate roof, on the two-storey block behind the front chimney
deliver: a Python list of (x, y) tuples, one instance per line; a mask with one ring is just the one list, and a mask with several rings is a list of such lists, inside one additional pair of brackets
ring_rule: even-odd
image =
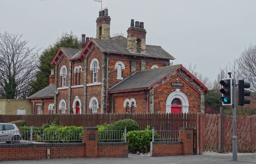
[(130, 54), (134, 56), (142, 55), (154, 58), (164, 58), (174, 60), (175, 58), (166, 52), (161, 46), (146, 45), (146, 54), (142, 54), (139, 51), (131, 52), (127, 48), (127, 38), (123, 36), (112, 37), (108, 40), (91, 38), (93, 42), (99, 46), (103, 52)]

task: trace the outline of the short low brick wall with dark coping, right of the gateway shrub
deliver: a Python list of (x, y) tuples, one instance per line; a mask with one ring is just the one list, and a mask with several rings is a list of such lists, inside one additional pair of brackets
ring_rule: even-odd
[(182, 142), (151, 142), (152, 157), (166, 155), (184, 155)]

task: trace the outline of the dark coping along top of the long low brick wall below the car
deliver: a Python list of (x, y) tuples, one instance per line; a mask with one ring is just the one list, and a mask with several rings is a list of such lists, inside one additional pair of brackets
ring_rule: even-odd
[(85, 146), (85, 143), (21, 143), (0, 144), (0, 147), (54, 147), (54, 146)]

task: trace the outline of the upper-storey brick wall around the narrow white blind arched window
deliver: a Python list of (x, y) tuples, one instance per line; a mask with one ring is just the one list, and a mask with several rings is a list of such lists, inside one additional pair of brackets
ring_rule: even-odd
[(131, 60), (128, 59), (121, 59), (121, 58), (110, 58), (109, 60), (109, 88), (114, 86), (115, 84), (121, 82), (122, 80), (116, 79), (117, 77), (117, 69), (115, 69), (116, 62), (121, 61), (125, 64), (125, 70), (122, 70), (122, 77), (123, 79), (127, 78), (131, 75)]

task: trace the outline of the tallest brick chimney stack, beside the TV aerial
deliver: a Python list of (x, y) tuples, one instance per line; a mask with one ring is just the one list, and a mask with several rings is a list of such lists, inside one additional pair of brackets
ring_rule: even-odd
[(110, 39), (110, 16), (108, 8), (99, 11), (99, 17), (96, 20), (96, 38), (107, 40)]

